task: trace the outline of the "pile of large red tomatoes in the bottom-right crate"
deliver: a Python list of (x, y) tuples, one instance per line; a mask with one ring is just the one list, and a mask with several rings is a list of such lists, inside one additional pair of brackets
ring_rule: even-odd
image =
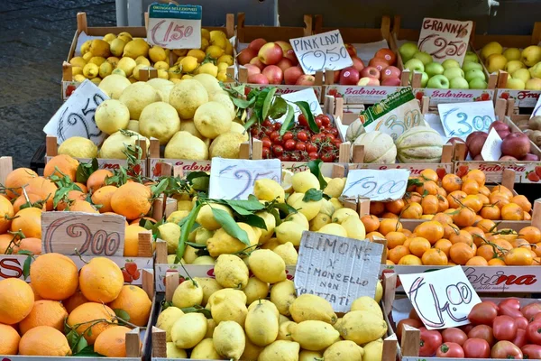
[(541, 303), (521, 307), (518, 299), (506, 299), (496, 304), (482, 301), (473, 306), (468, 320), (457, 328), (426, 329), (412, 310), (408, 319), (397, 326), (402, 337), (402, 325), (420, 329), (419, 356), (456, 358), (541, 359)]

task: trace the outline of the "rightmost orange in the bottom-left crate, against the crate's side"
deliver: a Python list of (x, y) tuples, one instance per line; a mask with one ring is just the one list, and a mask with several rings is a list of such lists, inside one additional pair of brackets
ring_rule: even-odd
[(109, 303), (113, 310), (125, 310), (130, 315), (130, 322), (137, 326), (145, 326), (151, 315), (152, 301), (141, 287), (126, 285), (115, 301)]

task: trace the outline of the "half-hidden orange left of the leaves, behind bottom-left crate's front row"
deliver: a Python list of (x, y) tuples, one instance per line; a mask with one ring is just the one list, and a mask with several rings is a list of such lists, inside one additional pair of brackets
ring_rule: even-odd
[(63, 331), (64, 319), (67, 317), (68, 312), (59, 301), (35, 301), (30, 314), (19, 323), (19, 330), (21, 335), (38, 326), (50, 326)]

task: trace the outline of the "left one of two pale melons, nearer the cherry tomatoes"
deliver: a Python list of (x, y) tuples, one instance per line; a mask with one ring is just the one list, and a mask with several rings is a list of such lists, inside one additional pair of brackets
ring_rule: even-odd
[(363, 133), (355, 139), (353, 145), (364, 145), (365, 163), (394, 163), (397, 147), (390, 135), (378, 131)]

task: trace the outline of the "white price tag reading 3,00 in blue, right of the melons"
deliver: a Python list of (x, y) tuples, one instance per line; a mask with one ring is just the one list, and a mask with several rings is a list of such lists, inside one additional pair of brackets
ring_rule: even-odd
[(462, 139), (476, 131), (488, 132), (496, 120), (494, 104), (489, 101), (441, 103), (437, 105), (445, 135)]

